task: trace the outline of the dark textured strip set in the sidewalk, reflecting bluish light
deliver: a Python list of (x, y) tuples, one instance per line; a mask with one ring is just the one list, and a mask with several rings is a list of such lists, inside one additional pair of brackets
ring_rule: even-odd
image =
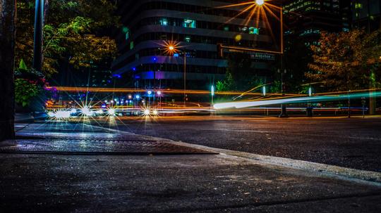
[(0, 143), (0, 153), (52, 153), (78, 155), (216, 154), (164, 141), (107, 139), (20, 139)]

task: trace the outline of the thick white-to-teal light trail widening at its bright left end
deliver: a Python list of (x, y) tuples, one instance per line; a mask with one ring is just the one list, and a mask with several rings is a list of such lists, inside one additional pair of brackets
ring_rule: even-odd
[[(214, 108), (217, 110), (226, 108), (252, 108), (261, 105), (275, 105), (275, 104), (286, 104), (286, 103), (306, 103), (306, 102), (325, 102), (325, 101), (342, 101), (348, 99), (356, 99), (369, 97), (369, 93), (356, 93), (350, 95), (341, 96), (313, 96), (313, 97), (301, 97), (301, 98), (283, 98), (276, 100), (267, 101), (241, 101), (241, 102), (229, 102), (229, 103), (216, 103)], [(372, 96), (381, 96), (381, 92), (377, 91), (372, 94)]]

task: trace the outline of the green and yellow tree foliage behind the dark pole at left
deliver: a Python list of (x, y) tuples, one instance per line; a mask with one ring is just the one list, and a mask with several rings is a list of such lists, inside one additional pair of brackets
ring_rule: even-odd
[[(54, 74), (62, 63), (79, 69), (114, 57), (115, 41), (104, 33), (119, 25), (112, 1), (45, 1), (44, 75)], [(18, 1), (17, 63), (32, 64), (34, 8), (33, 0)]]

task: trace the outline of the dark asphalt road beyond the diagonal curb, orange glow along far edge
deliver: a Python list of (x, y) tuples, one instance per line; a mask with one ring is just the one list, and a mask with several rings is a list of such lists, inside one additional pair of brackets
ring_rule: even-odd
[(381, 172), (381, 118), (116, 117), (92, 124), (213, 148)]

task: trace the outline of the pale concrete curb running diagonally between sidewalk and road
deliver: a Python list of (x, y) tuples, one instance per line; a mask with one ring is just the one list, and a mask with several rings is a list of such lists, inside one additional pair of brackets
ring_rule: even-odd
[[(118, 132), (120, 134), (134, 134), (128, 131), (109, 129), (106, 127), (97, 127), (97, 126), (92, 126), (92, 127)], [(138, 135), (138, 134), (135, 134), (135, 135)], [(248, 160), (253, 160), (253, 162), (259, 163), (259, 164), (268, 164), (268, 165), (274, 165), (274, 166), (289, 167), (292, 169), (300, 169), (307, 172), (313, 172), (320, 176), (329, 176), (335, 179), (355, 181), (361, 184), (381, 187), (381, 172), (372, 172), (372, 171), (365, 171), (360, 169), (350, 169), (346, 167), (338, 167), (338, 166), (333, 166), (329, 164), (320, 164), (316, 162), (308, 162), (303, 160), (294, 160), (294, 159), (284, 158), (284, 157), (273, 157), (268, 155), (243, 153), (243, 152), (234, 151), (234, 150), (211, 148), (208, 146), (184, 143), (181, 141), (172, 141), (167, 138), (158, 138), (158, 137), (144, 136), (144, 135), (141, 135), (141, 136), (143, 138), (155, 138), (157, 141), (165, 141), (166, 143), (173, 143), (175, 145), (186, 146), (189, 148), (197, 148), (197, 149), (205, 150), (212, 153), (220, 153), (220, 154), (231, 155), (235, 157), (243, 157)]]

